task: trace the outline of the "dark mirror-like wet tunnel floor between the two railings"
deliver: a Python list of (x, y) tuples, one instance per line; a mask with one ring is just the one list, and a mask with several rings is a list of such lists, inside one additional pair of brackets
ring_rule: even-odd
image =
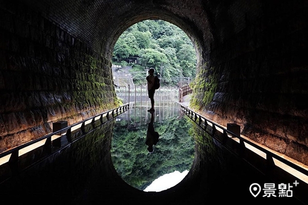
[[(145, 141), (152, 116), (160, 136), (149, 153)], [(305, 204), (279, 197), (278, 183), (224, 149), (178, 106), (157, 108), (154, 115), (146, 108), (130, 108), (94, 127), (88, 126), (86, 134), (76, 131), (78, 140), (1, 183), (0, 204), (16, 198), (32, 204), (211, 204), (225, 199)], [(175, 187), (142, 191), (159, 175), (186, 169)], [(294, 181), (282, 182), (294, 195), (303, 191)], [(253, 183), (261, 187), (256, 197), (249, 191)], [(275, 190), (268, 188), (273, 185)], [(276, 197), (264, 196), (268, 193)]]

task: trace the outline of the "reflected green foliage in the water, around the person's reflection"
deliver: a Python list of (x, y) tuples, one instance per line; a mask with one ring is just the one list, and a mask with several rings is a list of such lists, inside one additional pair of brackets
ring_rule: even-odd
[(118, 174), (132, 187), (144, 190), (156, 178), (174, 171), (189, 170), (194, 160), (194, 138), (189, 134), (187, 117), (166, 119), (162, 125), (154, 122), (160, 135), (153, 153), (145, 145), (147, 125), (128, 131), (117, 122), (112, 138), (112, 162)]

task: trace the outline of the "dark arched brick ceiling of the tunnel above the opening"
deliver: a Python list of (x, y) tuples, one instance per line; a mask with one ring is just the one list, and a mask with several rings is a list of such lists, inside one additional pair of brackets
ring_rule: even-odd
[(213, 40), (204, 1), (31, 1), (65, 31), (87, 42), (110, 59), (114, 44), (131, 25), (146, 19), (163, 19), (181, 28), (194, 42), (197, 52), (208, 50)]

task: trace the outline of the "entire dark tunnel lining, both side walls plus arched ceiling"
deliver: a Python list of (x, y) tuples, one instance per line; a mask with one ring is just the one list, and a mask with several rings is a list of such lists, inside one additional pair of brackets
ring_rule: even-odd
[(118, 37), (141, 20), (164, 19), (196, 46), (194, 99), (204, 115), (236, 122), (308, 165), (307, 7), (305, 0), (2, 1), (0, 149), (48, 132), (53, 120), (112, 107)]

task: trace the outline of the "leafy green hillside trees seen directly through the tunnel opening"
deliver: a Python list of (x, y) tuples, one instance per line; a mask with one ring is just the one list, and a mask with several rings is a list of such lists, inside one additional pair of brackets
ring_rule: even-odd
[(163, 20), (144, 20), (128, 28), (113, 50), (113, 64), (125, 65), (128, 58), (137, 58), (132, 71), (134, 83), (144, 83), (144, 71), (150, 67), (161, 74), (161, 83), (176, 85), (181, 77), (196, 75), (196, 51), (187, 35), (177, 26)]

